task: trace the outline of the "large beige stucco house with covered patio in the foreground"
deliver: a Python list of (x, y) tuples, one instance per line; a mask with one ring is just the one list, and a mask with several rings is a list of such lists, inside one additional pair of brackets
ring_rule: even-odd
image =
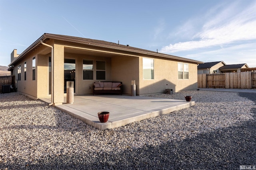
[(163, 93), (165, 89), (197, 89), (201, 61), (166, 55), (106, 41), (44, 33), (9, 64), (19, 92), (32, 98), (64, 102), (66, 82), (74, 81), (74, 94), (92, 94), (96, 81), (120, 81), (124, 94)]

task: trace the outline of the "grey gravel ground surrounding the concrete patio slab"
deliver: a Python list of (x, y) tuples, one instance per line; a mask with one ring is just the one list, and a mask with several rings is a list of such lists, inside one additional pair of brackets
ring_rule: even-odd
[(0, 94), (0, 169), (238, 169), (256, 165), (256, 94), (152, 97), (196, 104), (100, 131), (41, 100)]

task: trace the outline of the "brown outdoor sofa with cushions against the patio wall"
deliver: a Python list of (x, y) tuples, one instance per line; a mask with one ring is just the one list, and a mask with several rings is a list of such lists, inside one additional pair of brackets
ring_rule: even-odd
[(112, 81), (94, 82), (92, 95), (104, 94), (104, 93), (122, 95), (122, 82), (112, 82)]

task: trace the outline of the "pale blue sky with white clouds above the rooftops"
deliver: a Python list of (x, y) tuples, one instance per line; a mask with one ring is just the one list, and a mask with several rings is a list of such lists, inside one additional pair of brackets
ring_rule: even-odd
[(0, 0), (0, 65), (44, 33), (256, 67), (256, 0)]

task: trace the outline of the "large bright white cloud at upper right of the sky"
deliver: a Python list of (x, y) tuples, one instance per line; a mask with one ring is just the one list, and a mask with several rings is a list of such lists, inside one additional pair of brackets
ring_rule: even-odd
[[(178, 42), (162, 47), (161, 53), (174, 53), (177, 51), (189, 51), (212, 46), (222, 46), (230, 43), (236, 43), (244, 40), (256, 40), (256, 4), (252, 4), (244, 10), (238, 11), (239, 4), (234, 3), (229, 8), (219, 11), (216, 16), (202, 25), (200, 32), (193, 38), (194, 41)], [(210, 10), (206, 16), (213, 13)], [(191, 24), (190, 21), (187, 22)], [(195, 23), (196, 24), (196, 23)], [(190, 25), (193, 27), (193, 25)]]

